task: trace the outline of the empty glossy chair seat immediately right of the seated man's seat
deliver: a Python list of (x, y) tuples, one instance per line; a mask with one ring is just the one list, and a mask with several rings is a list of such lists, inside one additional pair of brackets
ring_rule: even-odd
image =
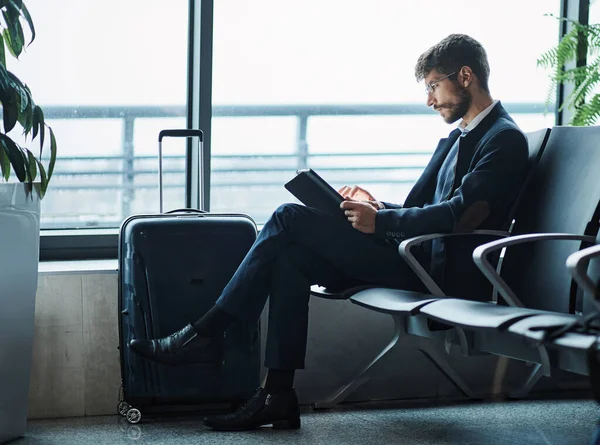
[(546, 311), (444, 298), (421, 308), (421, 314), (451, 326), (472, 330), (505, 330), (513, 323)]

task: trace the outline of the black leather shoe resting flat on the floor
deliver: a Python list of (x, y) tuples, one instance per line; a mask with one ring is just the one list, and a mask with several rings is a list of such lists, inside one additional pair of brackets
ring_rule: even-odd
[(258, 388), (254, 396), (237, 411), (206, 417), (204, 424), (219, 431), (245, 431), (270, 424), (274, 429), (298, 429), (298, 397), (294, 389), (281, 394), (269, 394), (263, 388)]

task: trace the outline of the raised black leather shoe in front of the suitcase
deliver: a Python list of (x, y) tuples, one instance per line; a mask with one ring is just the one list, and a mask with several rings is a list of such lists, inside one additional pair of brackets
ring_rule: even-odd
[(201, 337), (194, 327), (186, 327), (157, 340), (133, 339), (129, 347), (147, 359), (170, 365), (190, 363), (220, 363), (223, 337)]

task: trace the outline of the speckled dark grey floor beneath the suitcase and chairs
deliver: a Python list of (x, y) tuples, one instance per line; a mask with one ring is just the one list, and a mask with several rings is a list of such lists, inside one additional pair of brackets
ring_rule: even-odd
[(118, 416), (35, 420), (14, 445), (118, 444), (557, 444), (590, 443), (600, 407), (592, 401), (345, 406), (302, 414), (302, 428), (243, 433), (205, 429), (198, 417)]

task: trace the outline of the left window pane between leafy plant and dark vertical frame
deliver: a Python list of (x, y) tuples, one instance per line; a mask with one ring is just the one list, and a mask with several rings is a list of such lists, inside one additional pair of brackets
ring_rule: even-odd
[[(44, 108), (59, 149), (42, 228), (117, 227), (158, 211), (158, 131), (186, 124), (187, 2), (27, 5), (37, 37), (11, 69)], [(165, 151), (165, 200), (181, 207), (184, 146)]]

